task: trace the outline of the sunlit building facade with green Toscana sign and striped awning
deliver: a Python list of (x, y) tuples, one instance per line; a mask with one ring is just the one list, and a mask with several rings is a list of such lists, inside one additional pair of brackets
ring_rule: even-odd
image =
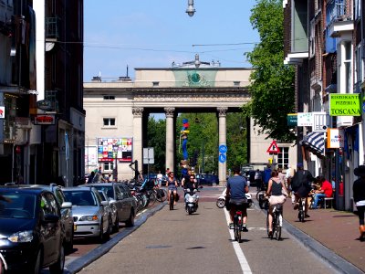
[(296, 66), (297, 113), (321, 117), (298, 124), (297, 161), (333, 179), (336, 206), (346, 210), (353, 209), (353, 170), (364, 163), (363, 4), (283, 1), (285, 62)]

